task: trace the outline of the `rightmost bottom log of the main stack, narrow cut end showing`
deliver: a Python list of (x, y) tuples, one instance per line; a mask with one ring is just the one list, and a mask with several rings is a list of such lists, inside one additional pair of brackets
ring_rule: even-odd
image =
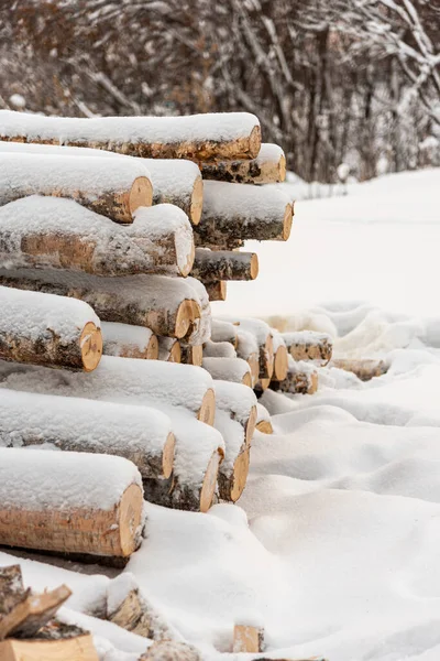
[(249, 474), (249, 447), (243, 426), (232, 420), (228, 411), (218, 409), (215, 427), (224, 438), (224, 459), (219, 468), (219, 496), (235, 502), (242, 495)]

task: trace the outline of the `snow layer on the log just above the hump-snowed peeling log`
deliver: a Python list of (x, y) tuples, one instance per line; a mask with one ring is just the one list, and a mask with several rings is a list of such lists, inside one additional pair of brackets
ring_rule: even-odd
[(150, 178), (145, 163), (139, 159), (122, 163), (117, 159), (103, 161), (103, 158), (89, 161), (80, 155), (72, 161), (61, 154), (1, 151), (0, 203), (3, 193), (7, 197), (13, 196), (14, 188), (25, 187), (31, 195), (46, 191), (51, 194), (54, 189), (77, 192), (86, 185), (89, 194), (98, 196), (106, 191), (130, 191), (139, 176)]

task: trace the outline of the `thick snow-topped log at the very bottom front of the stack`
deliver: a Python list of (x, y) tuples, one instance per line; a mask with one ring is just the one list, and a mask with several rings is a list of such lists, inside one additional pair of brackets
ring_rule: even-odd
[(127, 557), (140, 543), (142, 507), (141, 475), (127, 459), (0, 449), (3, 545)]

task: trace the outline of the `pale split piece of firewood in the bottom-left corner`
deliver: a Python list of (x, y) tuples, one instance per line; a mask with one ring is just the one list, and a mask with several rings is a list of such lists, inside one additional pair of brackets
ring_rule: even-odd
[(90, 633), (61, 640), (15, 640), (0, 642), (1, 661), (99, 661)]

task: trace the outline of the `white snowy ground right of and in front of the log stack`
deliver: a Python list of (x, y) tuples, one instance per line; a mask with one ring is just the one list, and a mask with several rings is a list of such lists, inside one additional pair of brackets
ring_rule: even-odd
[[(322, 368), (315, 395), (266, 392), (275, 434), (255, 434), (239, 507), (147, 506), (125, 571), (207, 659), (230, 651), (235, 621), (264, 626), (265, 657), (440, 659), (439, 188), (440, 170), (426, 171), (299, 203), (290, 242), (258, 248), (254, 299), (231, 288), (224, 313), (307, 305), (288, 327), (330, 332), (338, 355), (389, 369), (362, 383)], [(101, 661), (134, 661), (143, 639), (79, 614), (109, 572), (73, 568), (23, 561), (35, 588), (74, 588), (63, 616), (91, 628)]]

